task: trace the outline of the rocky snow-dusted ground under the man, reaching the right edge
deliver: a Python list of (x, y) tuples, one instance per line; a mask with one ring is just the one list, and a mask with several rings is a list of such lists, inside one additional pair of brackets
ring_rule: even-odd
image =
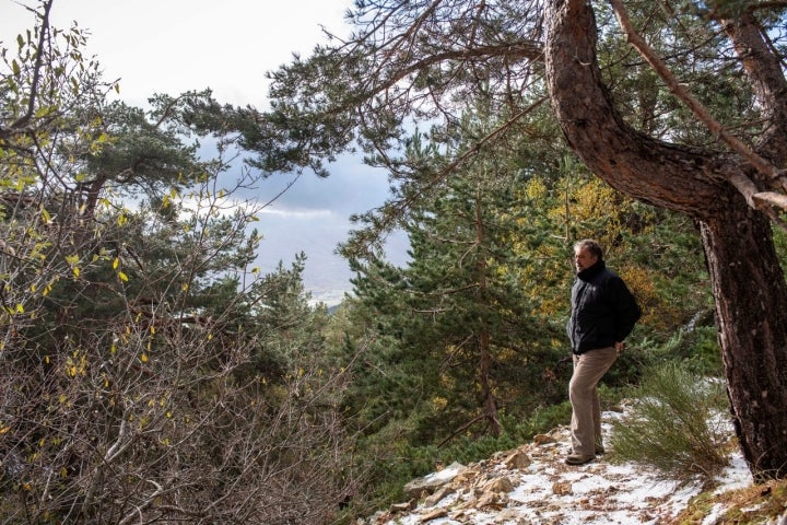
[[(620, 417), (622, 412), (604, 412), (606, 433), (610, 432), (610, 421)], [(749, 516), (747, 520), (727, 517), (732, 502), (740, 501), (731, 494), (753, 487), (738, 454), (730, 457), (729, 467), (714, 488), (704, 491), (698, 482), (682, 483), (659, 478), (639, 466), (614, 464), (608, 460), (609, 454), (587, 465), (565, 465), (568, 443), (568, 430), (561, 428), (488, 460), (449, 465), (409, 483), (408, 502), (359, 521), (359, 525), (787, 525), (787, 500), (777, 503), (783, 505), (777, 517), (756, 517), (756, 509), (765, 505), (765, 500), (757, 503), (757, 491), (747, 497), (748, 509), (736, 508), (735, 515)], [(760, 492), (771, 494), (770, 488)], [(686, 509), (701, 493), (708, 494), (702, 516), (686, 518)], [(773, 502), (767, 500), (767, 504)]]

